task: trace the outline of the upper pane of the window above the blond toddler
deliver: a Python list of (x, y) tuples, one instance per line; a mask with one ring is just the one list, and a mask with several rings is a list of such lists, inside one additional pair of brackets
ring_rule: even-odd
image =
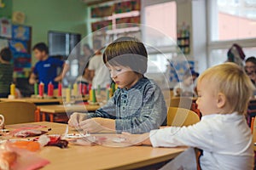
[(216, 30), (212, 41), (256, 37), (255, 1), (214, 0), (212, 3), (212, 29)]

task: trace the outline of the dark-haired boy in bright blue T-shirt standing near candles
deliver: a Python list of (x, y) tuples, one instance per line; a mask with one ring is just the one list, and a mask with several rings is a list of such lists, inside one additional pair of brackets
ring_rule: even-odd
[[(48, 47), (44, 42), (39, 42), (33, 47), (35, 57), (39, 60), (29, 78), (29, 83), (44, 83), (44, 92), (47, 92), (47, 85), (52, 82), (54, 88), (58, 88), (58, 82), (66, 74), (68, 65), (61, 59), (51, 58), (48, 55)], [(57, 75), (57, 68), (62, 68), (62, 73)], [(37, 80), (38, 79), (38, 80)]]

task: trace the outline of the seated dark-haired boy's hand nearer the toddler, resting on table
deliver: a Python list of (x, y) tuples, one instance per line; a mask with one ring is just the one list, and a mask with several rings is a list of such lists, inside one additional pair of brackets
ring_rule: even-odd
[(105, 127), (102, 126), (102, 118), (100, 117), (90, 118), (79, 122), (79, 127), (89, 133), (97, 133), (105, 130)]

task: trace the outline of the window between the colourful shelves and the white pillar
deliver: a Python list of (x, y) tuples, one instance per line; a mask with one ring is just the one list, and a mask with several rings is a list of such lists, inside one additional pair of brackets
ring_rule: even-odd
[[(143, 42), (148, 48), (148, 73), (165, 72), (176, 54), (177, 6), (175, 1), (143, 0)], [(155, 50), (157, 49), (157, 50)]]

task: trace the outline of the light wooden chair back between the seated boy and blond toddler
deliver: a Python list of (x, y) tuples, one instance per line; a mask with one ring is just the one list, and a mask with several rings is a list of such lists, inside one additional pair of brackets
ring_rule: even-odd
[(169, 107), (167, 112), (167, 126), (183, 127), (200, 122), (199, 116), (188, 109)]

